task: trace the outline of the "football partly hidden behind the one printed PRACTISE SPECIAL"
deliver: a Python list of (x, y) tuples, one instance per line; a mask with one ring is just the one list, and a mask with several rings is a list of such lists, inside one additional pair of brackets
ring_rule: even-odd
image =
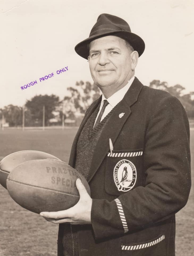
[(38, 151), (38, 150), (23, 150), (12, 153), (4, 157), (0, 162), (0, 184), (6, 187), (7, 176), (11, 170), (13, 170), (16, 166), (20, 165), (20, 163), (35, 160), (35, 159), (47, 159), (54, 158), (54, 155), (50, 155), (48, 153)]

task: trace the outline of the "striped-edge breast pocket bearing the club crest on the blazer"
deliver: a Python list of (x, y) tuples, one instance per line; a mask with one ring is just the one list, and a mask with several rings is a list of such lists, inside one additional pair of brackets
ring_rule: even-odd
[(142, 186), (143, 149), (108, 152), (105, 170), (105, 191), (119, 196)]

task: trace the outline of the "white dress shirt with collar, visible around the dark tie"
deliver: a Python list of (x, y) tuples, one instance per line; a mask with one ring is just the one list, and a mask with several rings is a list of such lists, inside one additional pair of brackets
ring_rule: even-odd
[[(119, 91), (117, 91), (116, 93), (114, 93), (111, 97), (109, 97), (108, 99), (106, 99), (104, 97), (104, 95), (102, 94), (102, 101), (101, 101), (101, 104), (100, 104), (100, 109), (98, 111), (98, 115), (100, 113), (100, 110), (102, 109), (102, 106), (103, 106), (103, 103), (104, 103), (104, 100), (106, 99), (108, 101), (108, 105), (106, 106), (105, 110), (104, 110), (104, 113), (100, 119), (100, 122), (104, 119), (104, 117), (106, 117), (106, 115), (113, 109), (113, 107), (115, 107), (125, 96), (126, 92), (128, 91), (129, 87), (131, 86), (131, 84), (133, 83), (133, 80), (134, 80), (134, 76), (129, 80), (129, 82), (123, 87), (121, 88)], [(96, 117), (96, 120), (98, 118), (98, 115)], [(95, 123), (96, 123), (96, 120), (95, 120)], [(94, 123), (94, 125), (95, 125)]]

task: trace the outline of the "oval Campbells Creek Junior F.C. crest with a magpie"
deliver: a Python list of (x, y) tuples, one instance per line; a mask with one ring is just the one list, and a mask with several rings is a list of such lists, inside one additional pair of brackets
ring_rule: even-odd
[(131, 190), (137, 179), (137, 171), (135, 165), (126, 159), (120, 160), (114, 168), (114, 181), (119, 191)]

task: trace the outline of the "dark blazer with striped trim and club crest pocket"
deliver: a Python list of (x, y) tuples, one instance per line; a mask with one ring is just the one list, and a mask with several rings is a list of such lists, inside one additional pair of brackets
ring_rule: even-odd
[[(81, 130), (100, 101), (88, 108), (75, 136), (72, 167)], [(135, 77), (100, 135), (88, 183), (92, 225), (77, 227), (81, 256), (175, 255), (175, 213), (191, 187), (189, 123), (180, 101)]]

